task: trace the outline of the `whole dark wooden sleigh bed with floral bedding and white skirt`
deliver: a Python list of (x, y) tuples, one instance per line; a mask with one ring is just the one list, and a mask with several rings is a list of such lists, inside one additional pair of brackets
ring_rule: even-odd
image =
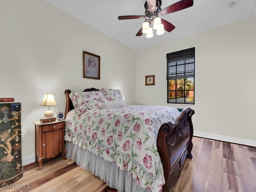
[(118, 192), (168, 192), (192, 159), (192, 115), (126, 105), (120, 90), (65, 90), (66, 157)]

